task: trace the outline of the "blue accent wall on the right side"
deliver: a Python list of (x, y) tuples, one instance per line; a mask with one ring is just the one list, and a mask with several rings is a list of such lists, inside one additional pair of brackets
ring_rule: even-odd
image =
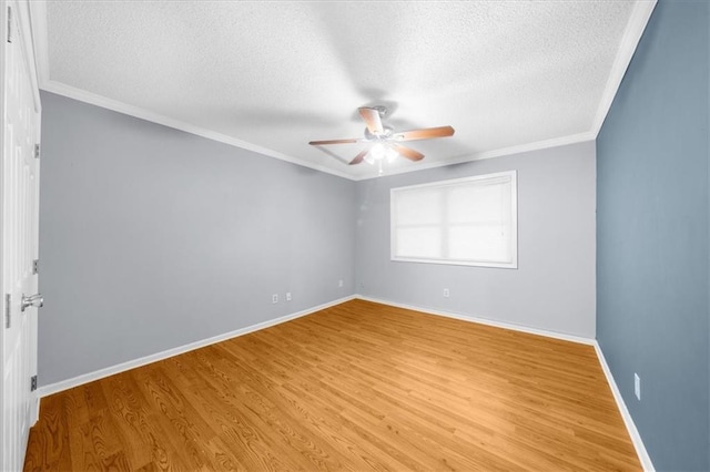
[(710, 470), (709, 10), (659, 1), (597, 141), (598, 340), (661, 471)]

